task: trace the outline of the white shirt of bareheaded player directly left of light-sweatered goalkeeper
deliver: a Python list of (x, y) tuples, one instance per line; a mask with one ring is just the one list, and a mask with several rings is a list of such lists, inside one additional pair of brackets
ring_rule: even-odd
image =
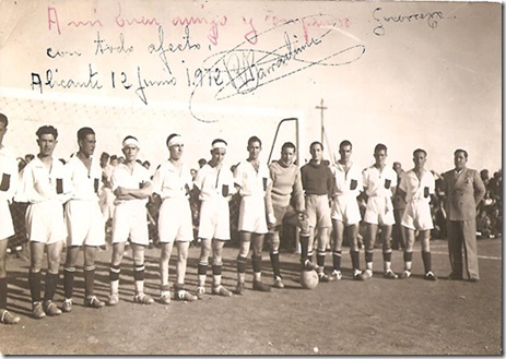
[(248, 160), (244, 160), (235, 169), (234, 182), (240, 187), (239, 194), (243, 196), (264, 196), (270, 186), (269, 168), (260, 164), (257, 172)]

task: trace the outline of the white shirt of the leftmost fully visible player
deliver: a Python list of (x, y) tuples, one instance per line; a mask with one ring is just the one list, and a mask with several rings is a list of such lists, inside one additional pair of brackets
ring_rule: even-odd
[(21, 172), (20, 186), (14, 199), (16, 202), (39, 203), (68, 200), (69, 179), (61, 161), (54, 158), (47, 167), (38, 157), (32, 159)]

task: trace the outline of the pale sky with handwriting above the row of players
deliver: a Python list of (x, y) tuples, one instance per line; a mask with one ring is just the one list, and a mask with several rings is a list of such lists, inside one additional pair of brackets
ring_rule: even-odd
[[(326, 129), (326, 157), (350, 140), (362, 167), (385, 143), (390, 163), (492, 172), (502, 165), (501, 3), (329, 1), (0, 2), (0, 110), (5, 144), (36, 153), (35, 131), (60, 130), (57, 156), (91, 125), (97, 152), (119, 154), (125, 135), (160, 164), (165, 139), (187, 139), (191, 164), (215, 137), (227, 161), (250, 135), (267, 160), (278, 122), (297, 118), (299, 157)], [(75, 85), (78, 84), (78, 85)], [(321, 100), (326, 109), (319, 108)], [(272, 158), (295, 142), (280, 130)]]

